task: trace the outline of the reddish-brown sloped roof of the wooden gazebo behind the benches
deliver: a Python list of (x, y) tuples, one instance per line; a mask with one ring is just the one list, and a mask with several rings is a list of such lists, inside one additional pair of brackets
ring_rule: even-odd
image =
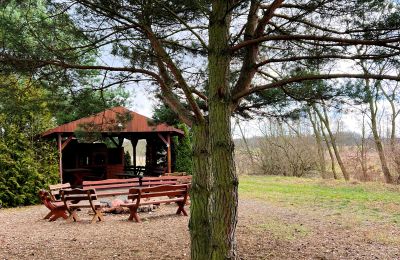
[(169, 133), (171, 135), (184, 135), (184, 132), (165, 123), (155, 124), (154, 121), (125, 107), (114, 107), (93, 116), (84, 117), (50, 129), (42, 137), (51, 138), (58, 134), (63, 136), (73, 135), (83, 126), (90, 126), (102, 134), (146, 134)]

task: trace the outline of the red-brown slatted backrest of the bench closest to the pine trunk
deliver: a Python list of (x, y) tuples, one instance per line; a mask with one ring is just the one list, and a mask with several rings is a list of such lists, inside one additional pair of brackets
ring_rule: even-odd
[(129, 189), (128, 199), (139, 200), (142, 198), (154, 198), (154, 197), (179, 197), (187, 196), (189, 185), (159, 185), (153, 187), (142, 187), (142, 188), (131, 188)]

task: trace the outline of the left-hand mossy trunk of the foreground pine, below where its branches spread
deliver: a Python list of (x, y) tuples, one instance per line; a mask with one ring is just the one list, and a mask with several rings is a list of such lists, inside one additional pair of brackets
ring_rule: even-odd
[(190, 194), (191, 258), (210, 259), (210, 193), (211, 164), (208, 124), (192, 125), (193, 133), (193, 179)]

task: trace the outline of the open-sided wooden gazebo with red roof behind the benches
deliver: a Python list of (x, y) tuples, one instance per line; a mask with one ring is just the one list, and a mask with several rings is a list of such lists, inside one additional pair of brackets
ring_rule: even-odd
[[(136, 168), (136, 146), (146, 139), (146, 167), (157, 165), (153, 144), (161, 142), (166, 147), (166, 173), (171, 172), (171, 137), (184, 132), (167, 124), (155, 124), (152, 119), (124, 107), (114, 107), (93, 116), (81, 118), (50, 129), (43, 138), (56, 139), (59, 153), (59, 173), (62, 182), (71, 174), (87, 174), (101, 179), (116, 178), (124, 172), (123, 141), (130, 140), (133, 147), (133, 168)], [(84, 138), (82, 138), (84, 137)], [(78, 139), (86, 139), (85, 142)], [(115, 147), (109, 148), (98, 140), (109, 139)], [(88, 141), (89, 140), (89, 141)], [(150, 164), (150, 165), (148, 165)]]

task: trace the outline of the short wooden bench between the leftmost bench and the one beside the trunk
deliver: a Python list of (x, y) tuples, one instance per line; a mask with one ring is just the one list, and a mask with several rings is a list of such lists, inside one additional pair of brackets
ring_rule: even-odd
[(77, 211), (81, 208), (91, 208), (93, 210), (92, 223), (95, 223), (97, 220), (104, 221), (104, 217), (101, 214), (101, 205), (97, 201), (97, 194), (94, 189), (61, 190), (61, 198), (69, 213), (67, 221), (79, 221)]

